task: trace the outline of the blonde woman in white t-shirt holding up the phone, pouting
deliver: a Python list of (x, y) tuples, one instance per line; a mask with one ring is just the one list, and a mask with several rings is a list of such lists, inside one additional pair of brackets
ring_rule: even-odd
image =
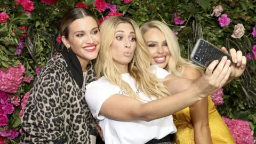
[(212, 62), (196, 80), (150, 66), (140, 29), (129, 18), (110, 17), (100, 31), (98, 80), (86, 85), (85, 99), (100, 121), (106, 143), (172, 143), (177, 130), (172, 114), (232, 80), (229, 76), (234, 71), (226, 57)]

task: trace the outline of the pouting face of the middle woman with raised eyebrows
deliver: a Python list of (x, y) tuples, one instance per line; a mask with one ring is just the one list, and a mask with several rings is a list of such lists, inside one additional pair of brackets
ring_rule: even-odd
[[(127, 67), (132, 61), (136, 49), (136, 37), (130, 23), (119, 23), (115, 29), (110, 51), (115, 65)], [(127, 70), (127, 69), (126, 69)]]

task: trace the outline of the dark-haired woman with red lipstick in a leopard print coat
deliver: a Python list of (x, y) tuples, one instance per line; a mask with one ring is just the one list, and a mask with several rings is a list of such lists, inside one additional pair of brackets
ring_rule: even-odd
[(84, 8), (69, 10), (61, 21), (67, 47), (40, 70), (21, 118), (21, 143), (95, 143), (95, 122), (84, 98), (95, 81), (91, 60), (100, 44), (98, 21)]

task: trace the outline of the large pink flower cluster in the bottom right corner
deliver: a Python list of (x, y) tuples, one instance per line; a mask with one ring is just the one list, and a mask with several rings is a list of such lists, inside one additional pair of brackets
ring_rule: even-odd
[(254, 144), (253, 131), (247, 121), (240, 119), (228, 119), (222, 116), (237, 144)]

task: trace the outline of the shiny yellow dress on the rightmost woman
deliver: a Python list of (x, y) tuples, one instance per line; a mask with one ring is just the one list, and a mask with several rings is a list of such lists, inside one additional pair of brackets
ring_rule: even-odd
[[(222, 121), (220, 114), (214, 106), (211, 97), (208, 97), (209, 127), (211, 130), (213, 144), (235, 143), (227, 125)], [(174, 124), (177, 127), (174, 143), (194, 144), (194, 129), (191, 123), (189, 107), (182, 109), (173, 115)]]

